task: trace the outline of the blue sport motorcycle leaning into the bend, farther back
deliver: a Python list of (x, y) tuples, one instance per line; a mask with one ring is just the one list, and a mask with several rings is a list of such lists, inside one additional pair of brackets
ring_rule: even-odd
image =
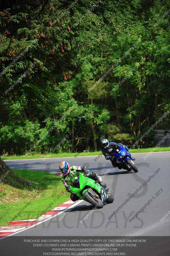
[(111, 160), (113, 161), (113, 159), (115, 158), (116, 163), (128, 172), (130, 172), (131, 170), (133, 170), (134, 172), (138, 172), (137, 167), (131, 159), (131, 154), (126, 148), (127, 147), (123, 147), (121, 145), (116, 145), (112, 150), (111, 155), (113, 155), (113, 157)]

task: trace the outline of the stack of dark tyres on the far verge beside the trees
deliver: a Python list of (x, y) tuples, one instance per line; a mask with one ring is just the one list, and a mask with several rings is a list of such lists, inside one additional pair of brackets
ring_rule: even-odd
[(154, 147), (170, 147), (170, 129), (153, 131), (153, 146)]

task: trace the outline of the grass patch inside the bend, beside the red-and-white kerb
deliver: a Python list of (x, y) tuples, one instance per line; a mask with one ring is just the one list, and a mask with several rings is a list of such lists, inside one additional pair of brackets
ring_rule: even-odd
[[(7, 225), (10, 220), (36, 219), (69, 199), (70, 193), (66, 192), (60, 176), (39, 171), (12, 171), (36, 183), (41, 190), (18, 189), (1, 182), (1, 195), (6, 195), (0, 196), (3, 198), (3, 201), (0, 201), (0, 225)], [(19, 200), (14, 201), (15, 198)], [(34, 200), (26, 206), (32, 198)], [(18, 213), (19, 216), (15, 217)]]

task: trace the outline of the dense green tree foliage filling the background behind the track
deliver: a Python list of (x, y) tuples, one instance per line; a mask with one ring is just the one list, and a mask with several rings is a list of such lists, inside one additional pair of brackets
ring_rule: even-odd
[[(1, 154), (24, 154), (53, 125), (34, 151), (73, 127), (57, 151), (97, 150), (103, 137), (133, 144), (170, 108), (168, 10), (169, 0), (4, 1)], [(140, 146), (152, 146), (152, 132)]]

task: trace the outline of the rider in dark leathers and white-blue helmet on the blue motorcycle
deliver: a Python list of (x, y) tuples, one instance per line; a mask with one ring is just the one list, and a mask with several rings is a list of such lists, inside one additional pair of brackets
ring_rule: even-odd
[[(122, 169), (122, 167), (116, 162), (116, 158), (113, 156), (112, 150), (115, 146), (122, 146), (126, 148), (127, 150), (128, 147), (121, 144), (121, 143), (116, 143), (116, 142), (109, 142), (107, 139), (102, 140), (102, 153), (105, 156), (106, 160), (110, 160), (113, 167), (118, 167), (119, 169)], [(131, 159), (135, 161), (135, 158), (131, 156)]]

